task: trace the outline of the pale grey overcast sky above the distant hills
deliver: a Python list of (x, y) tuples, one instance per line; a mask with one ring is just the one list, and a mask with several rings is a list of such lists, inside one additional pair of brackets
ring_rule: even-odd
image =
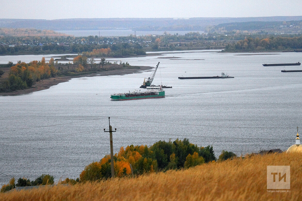
[(1, 0), (0, 18), (302, 16), (301, 0)]

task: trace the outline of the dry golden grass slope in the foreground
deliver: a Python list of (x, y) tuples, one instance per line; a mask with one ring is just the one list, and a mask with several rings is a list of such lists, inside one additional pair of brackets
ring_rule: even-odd
[[(268, 154), (137, 178), (1, 193), (0, 200), (300, 200), (301, 163), (301, 154)], [(290, 192), (267, 192), (267, 165), (291, 166)]]

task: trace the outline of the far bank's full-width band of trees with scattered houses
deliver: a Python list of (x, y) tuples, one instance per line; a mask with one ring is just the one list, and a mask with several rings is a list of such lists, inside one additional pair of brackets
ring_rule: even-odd
[[(266, 51), (292, 50), (301, 47), (301, 34), (275, 36), (262, 33), (241, 34), (239, 31), (225, 33), (189, 32), (185, 35), (164, 33), (160, 36), (121, 36), (121, 37), (5, 37), (0, 36), (0, 55), (5, 54), (50, 54), (80, 53), (87, 57), (127, 57), (146, 55), (149, 49), (224, 49), (226, 51)], [(271, 39), (269, 45), (258, 43)], [(242, 40), (247, 39), (246, 46)], [(252, 41), (254, 40), (254, 41)], [(249, 42), (252, 42), (249, 44)], [(9, 46), (8, 44), (18, 44)], [(22, 45), (21, 45), (22, 44)], [(109, 50), (110, 51), (103, 51)]]

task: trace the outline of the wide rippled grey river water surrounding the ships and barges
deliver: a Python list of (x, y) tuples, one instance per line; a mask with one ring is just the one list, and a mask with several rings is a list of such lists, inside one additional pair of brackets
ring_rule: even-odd
[[(286, 150), (295, 143), (297, 126), (302, 126), (302, 78), (301, 73), (281, 70), (301, 66), (262, 64), (301, 62), (302, 53), (163, 54), (110, 60), (154, 67), (160, 62), (153, 83), (173, 87), (165, 89), (165, 98), (110, 100), (112, 93), (140, 90), (153, 71), (74, 78), (47, 90), (0, 96), (0, 184), (11, 177), (33, 180), (41, 174), (51, 174), (55, 181), (79, 177), (86, 165), (110, 154), (109, 133), (103, 130), (108, 130), (108, 117), (117, 128), (114, 152), (121, 146), (177, 138), (213, 145), (217, 157), (223, 149), (245, 155)], [(20, 60), (9, 59), (0, 56), (0, 63)], [(235, 78), (178, 79), (221, 72)]]

